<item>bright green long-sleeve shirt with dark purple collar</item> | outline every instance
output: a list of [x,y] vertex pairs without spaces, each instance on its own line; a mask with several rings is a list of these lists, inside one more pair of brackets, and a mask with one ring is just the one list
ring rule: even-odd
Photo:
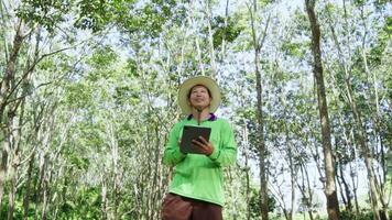
[[230,124],[224,119],[205,120],[200,127],[211,128],[209,141],[214,145],[211,155],[183,154],[179,152],[184,125],[197,125],[194,119],[177,122],[168,136],[163,162],[175,166],[170,193],[224,206],[224,166],[236,162],[237,144]]

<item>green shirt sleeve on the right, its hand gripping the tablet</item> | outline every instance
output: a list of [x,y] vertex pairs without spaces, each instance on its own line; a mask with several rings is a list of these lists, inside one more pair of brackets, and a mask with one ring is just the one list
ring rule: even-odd
[[237,160],[237,144],[230,124],[226,121],[221,124],[220,143],[215,147],[209,158],[219,166],[232,165]]

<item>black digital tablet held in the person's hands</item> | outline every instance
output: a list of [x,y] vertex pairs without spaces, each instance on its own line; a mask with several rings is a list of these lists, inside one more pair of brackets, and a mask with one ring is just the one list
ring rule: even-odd
[[209,141],[210,133],[210,128],[185,125],[183,130],[183,136],[181,138],[181,152],[184,154],[202,154],[199,152],[199,147],[192,143],[192,140],[197,140],[199,136],[203,136],[205,140]]

